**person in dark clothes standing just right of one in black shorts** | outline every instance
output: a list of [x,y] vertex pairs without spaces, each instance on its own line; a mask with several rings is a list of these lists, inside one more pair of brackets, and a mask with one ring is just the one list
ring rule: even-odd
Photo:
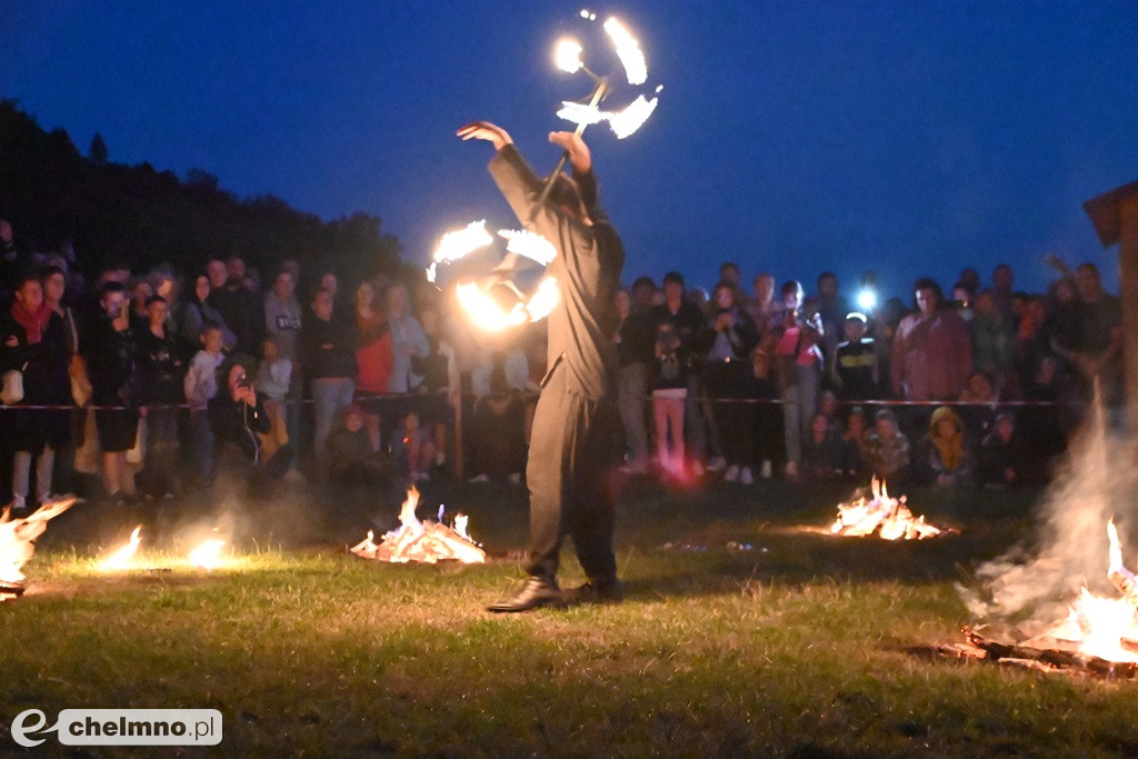
[[139,479],[142,494],[154,498],[178,492],[178,415],[185,398],[185,347],[167,331],[170,306],[152,295],[147,299],[147,324],[138,335],[141,402],[146,415],[146,467]]

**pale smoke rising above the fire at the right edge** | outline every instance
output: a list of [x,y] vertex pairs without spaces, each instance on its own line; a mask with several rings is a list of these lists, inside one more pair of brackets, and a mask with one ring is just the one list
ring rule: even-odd
[[1130,440],[1112,436],[1096,398],[1091,419],[1040,508],[1040,526],[1003,556],[982,564],[972,587],[957,586],[980,621],[1034,635],[1066,617],[1081,587],[1116,593],[1106,579],[1106,523],[1135,523],[1138,467]]

